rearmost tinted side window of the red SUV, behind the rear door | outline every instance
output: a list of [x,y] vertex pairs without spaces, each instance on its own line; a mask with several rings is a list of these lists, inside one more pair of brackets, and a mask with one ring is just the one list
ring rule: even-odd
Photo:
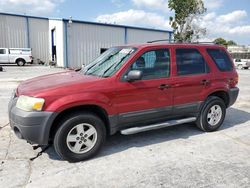
[[233,69],[231,60],[224,50],[207,49],[207,53],[213,59],[213,61],[215,62],[216,66],[220,71],[225,72],[225,71],[231,71]]

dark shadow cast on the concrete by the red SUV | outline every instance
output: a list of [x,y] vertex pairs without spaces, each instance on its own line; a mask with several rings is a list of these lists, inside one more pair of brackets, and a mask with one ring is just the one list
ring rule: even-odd
[[[250,121],[250,113],[236,108],[229,108],[226,119],[218,131],[237,126],[247,121]],[[187,139],[203,133],[204,132],[200,131],[195,124],[176,125],[128,136],[117,133],[107,138],[102,151],[96,158],[119,153],[133,147],[144,147],[175,139]],[[53,147],[47,150],[46,153],[51,159],[60,160]]]

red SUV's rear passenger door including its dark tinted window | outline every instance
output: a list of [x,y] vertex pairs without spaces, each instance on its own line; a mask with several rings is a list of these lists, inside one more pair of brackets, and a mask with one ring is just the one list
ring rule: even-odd
[[197,48],[175,48],[174,114],[188,115],[199,112],[210,88],[211,73],[204,52]]

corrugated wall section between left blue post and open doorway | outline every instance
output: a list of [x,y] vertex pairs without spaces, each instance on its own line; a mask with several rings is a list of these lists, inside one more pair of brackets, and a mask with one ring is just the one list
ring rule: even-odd
[[29,18],[30,48],[35,61],[49,61],[49,22],[46,19]]

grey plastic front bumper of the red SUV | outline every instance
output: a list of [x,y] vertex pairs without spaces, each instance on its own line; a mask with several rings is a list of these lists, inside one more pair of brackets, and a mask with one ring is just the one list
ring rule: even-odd
[[9,121],[16,136],[32,144],[47,145],[53,112],[26,112],[16,107],[17,97],[9,102]]

